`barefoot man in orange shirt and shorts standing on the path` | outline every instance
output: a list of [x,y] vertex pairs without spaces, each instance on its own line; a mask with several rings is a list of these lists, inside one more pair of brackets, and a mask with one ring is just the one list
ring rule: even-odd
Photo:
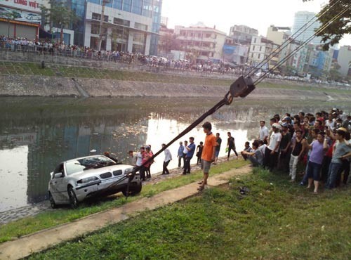
[[199,182],[200,186],[197,190],[204,190],[207,184],[208,172],[210,171],[211,163],[214,162],[216,158],[216,146],[218,145],[216,141],[216,136],[211,132],[212,124],[210,122],[205,122],[202,125],[204,133],[206,134],[204,149],[201,154],[201,169],[204,171],[204,178]]

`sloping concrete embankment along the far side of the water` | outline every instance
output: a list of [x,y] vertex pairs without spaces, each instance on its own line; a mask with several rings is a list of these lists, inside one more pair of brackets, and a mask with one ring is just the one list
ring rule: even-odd
[[[89,79],[25,75],[0,75],[0,96],[78,96],[78,97],[218,97],[229,86],[133,82],[115,79]],[[351,99],[347,93],[324,93],[297,89],[265,89],[258,86],[248,97],[256,100],[340,100]]]

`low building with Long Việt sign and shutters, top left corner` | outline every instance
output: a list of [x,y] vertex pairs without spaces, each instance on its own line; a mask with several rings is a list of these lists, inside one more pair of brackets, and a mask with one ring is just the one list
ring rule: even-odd
[[38,39],[42,5],[48,6],[48,1],[0,1],[0,35]]

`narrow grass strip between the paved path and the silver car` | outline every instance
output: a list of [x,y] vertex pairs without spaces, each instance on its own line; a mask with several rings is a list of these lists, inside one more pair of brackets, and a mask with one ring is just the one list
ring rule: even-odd
[[[224,171],[228,171],[232,168],[239,168],[246,164],[247,163],[244,162],[244,160],[235,160],[218,164],[216,167],[213,167],[211,175],[220,174]],[[80,219],[96,212],[102,212],[106,209],[119,207],[128,202],[138,200],[140,197],[152,197],[153,195],[161,193],[164,190],[171,190],[173,188],[178,188],[180,186],[184,186],[185,184],[197,181],[201,178],[201,176],[201,171],[195,171],[189,176],[177,176],[176,178],[170,178],[153,185],[144,186],[140,195],[128,197],[128,199],[124,198],[119,193],[115,196],[103,198],[101,200],[83,203],[78,209],[55,209],[53,211],[37,214],[36,216],[13,221],[0,227],[0,242],[6,242],[8,240],[21,237],[22,235],[43,230],[44,228],[58,226],[62,223],[69,223],[75,219]]]

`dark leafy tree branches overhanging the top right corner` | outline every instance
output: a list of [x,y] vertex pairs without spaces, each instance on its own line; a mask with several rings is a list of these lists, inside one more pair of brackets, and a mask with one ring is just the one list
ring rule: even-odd
[[[332,8],[327,11],[331,6]],[[333,20],[333,18],[335,18],[340,13],[340,11],[343,10],[345,10],[345,13],[343,13],[343,15],[340,15],[340,17],[332,22],[331,25],[327,26],[324,30],[317,33],[317,37],[322,37],[322,41],[324,42],[324,51],[328,51],[329,46],[338,44],[340,39],[343,38],[344,34],[351,34],[350,0],[329,0],[329,4],[324,6],[318,14],[318,20],[321,22],[321,26],[319,28],[322,28],[325,25],[328,25],[328,23]]]

